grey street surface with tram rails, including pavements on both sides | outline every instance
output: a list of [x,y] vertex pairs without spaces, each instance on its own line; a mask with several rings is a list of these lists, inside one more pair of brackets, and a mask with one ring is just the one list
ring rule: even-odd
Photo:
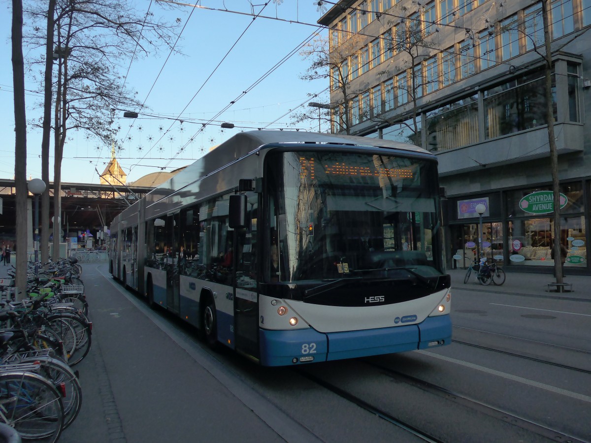
[[495,287],[452,270],[450,346],[294,369],[212,353],[84,266],[93,344],[61,442],[591,441],[588,276],[553,294],[549,275]]

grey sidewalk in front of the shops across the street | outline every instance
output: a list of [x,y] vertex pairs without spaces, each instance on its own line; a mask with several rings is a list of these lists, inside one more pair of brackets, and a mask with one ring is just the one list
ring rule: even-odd
[[469,289],[485,292],[502,292],[510,294],[545,295],[548,297],[558,296],[561,298],[587,299],[591,301],[591,277],[589,275],[568,275],[564,277],[564,283],[572,284],[571,292],[549,292],[548,283],[556,282],[551,273],[534,272],[511,272],[506,271],[505,283],[496,286],[491,283],[488,286],[481,285],[476,281],[476,275],[472,271],[470,280],[464,284],[464,277],[467,269],[447,269],[452,276],[452,288]]

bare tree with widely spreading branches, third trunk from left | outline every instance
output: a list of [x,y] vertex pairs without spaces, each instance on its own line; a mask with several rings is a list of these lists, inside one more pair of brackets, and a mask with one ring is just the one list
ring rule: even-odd
[[[37,6],[35,8],[34,6]],[[116,142],[117,128],[113,127],[113,113],[118,109],[139,109],[141,103],[125,87],[122,69],[134,57],[147,55],[149,50],[172,48],[174,31],[180,19],[168,24],[152,12],[136,11],[129,2],[117,0],[56,0],[55,7],[33,3],[28,10],[32,28],[27,35],[31,47],[46,48],[46,56],[33,63],[46,65],[43,89],[46,91],[44,118],[53,106],[54,127],[54,230],[53,259],[59,259],[61,224],[61,161],[67,132],[81,130],[106,145]],[[40,32],[36,21],[46,19],[49,26],[53,17],[53,34]],[[53,38],[52,38],[53,37]],[[47,58],[50,40],[55,48],[57,72],[51,82],[55,87],[52,101],[47,100]],[[38,122],[37,122],[38,123]],[[42,214],[48,224],[49,214]],[[46,244],[41,245],[42,252]]]

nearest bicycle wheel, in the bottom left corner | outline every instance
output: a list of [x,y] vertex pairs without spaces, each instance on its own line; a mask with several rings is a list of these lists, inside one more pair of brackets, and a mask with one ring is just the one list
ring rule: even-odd
[[0,374],[0,405],[6,422],[22,439],[54,443],[64,423],[61,395],[50,381],[32,372]]

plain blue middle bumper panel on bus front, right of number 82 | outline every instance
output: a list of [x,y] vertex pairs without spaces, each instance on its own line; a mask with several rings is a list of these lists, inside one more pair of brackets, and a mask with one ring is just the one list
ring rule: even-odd
[[392,354],[417,348],[418,325],[329,333],[327,360]]

